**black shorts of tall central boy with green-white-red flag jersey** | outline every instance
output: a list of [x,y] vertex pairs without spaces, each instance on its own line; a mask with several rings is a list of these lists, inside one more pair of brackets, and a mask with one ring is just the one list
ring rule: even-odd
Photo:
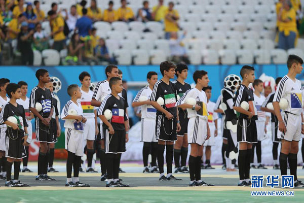
[[156,139],[162,141],[176,141],[176,118],[168,120],[164,115],[156,116]]

